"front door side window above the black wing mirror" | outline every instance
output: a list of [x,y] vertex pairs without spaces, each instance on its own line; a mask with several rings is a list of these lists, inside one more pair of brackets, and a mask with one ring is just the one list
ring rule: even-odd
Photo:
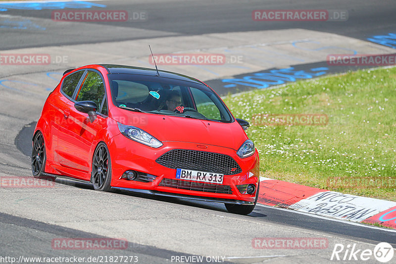
[[77,101],[94,101],[98,105],[98,111],[100,104],[104,97],[104,85],[100,75],[93,71],[88,71],[88,74],[84,80],[83,85],[77,96]]

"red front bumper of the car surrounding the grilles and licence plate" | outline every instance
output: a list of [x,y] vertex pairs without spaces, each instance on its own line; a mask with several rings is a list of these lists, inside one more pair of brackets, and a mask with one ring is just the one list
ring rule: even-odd
[[[202,144],[164,141],[163,146],[160,148],[151,148],[134,142],[122,134],[115,136],[113,139],[113,143],[109,146],[109,152],[112,164],[111,186],[114,188],[151,195],[188,198],[210,202],[247,205],[254,203],[255,192],[253,194],[247,194],[246,192],[241,192],[238,187],[245,184],[254,184],[257,190],[259,181],[259,159],[257,150],[252,156],[242,159],[233,149],[206,145],[207,149],[205,149],[205,152],[220,153],[230,156],[237,162],[242,172],[235,175],[224,175],[222,184],[206,183],[209,184],[206,186],[209,186],[211,189],[213,189],[214,185],[218,185],[217,187],[221,190],[205,191],[204,186],[202,186],[204,184],[203,182],[176,179],[176,169],[167,168],[156,162],[158,157],[172,149],[202,151],[202,149],[197,147]],[[121,178],[124,172],[128,170],[134,170],[156,177],[150,182]],[[166,184],[167,182],[171,182],[173,185]],[[197,188],[197,185],[202,188]],[[224,189],[228,189],[228,191],[224,191]]]

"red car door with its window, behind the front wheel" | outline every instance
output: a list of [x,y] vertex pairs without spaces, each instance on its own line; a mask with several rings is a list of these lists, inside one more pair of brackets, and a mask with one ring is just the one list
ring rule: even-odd
[[[106,114],[105,88],[103,77],[96,70],[88,70],[77,88],[73,100],[65,104],[67,122],[59,128],[58,154],[59,164],[64,174],[78,178],[90,179],[91,159],[94,151],[93,141]],[[98,118],[91,123],[88,114],[77,111],[74,103],[78,101],[94,101],[98,108]],[[101,109],[103,108],[103,109]]]

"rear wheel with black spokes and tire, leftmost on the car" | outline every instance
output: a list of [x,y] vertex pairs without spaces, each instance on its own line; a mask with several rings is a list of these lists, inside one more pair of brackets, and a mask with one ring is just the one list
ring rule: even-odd
[[47,178],[43,176],[44,169],[46,168],[46,144],[42,132],[37,132],[33,138],[32,147],[32,173],[35,178]]

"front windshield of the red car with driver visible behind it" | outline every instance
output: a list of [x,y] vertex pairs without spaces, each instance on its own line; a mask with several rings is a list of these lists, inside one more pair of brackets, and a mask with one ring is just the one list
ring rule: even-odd
[[114,105],[131,111],[232,122],[224,103],[203,84],[170,78],[109,74]]

